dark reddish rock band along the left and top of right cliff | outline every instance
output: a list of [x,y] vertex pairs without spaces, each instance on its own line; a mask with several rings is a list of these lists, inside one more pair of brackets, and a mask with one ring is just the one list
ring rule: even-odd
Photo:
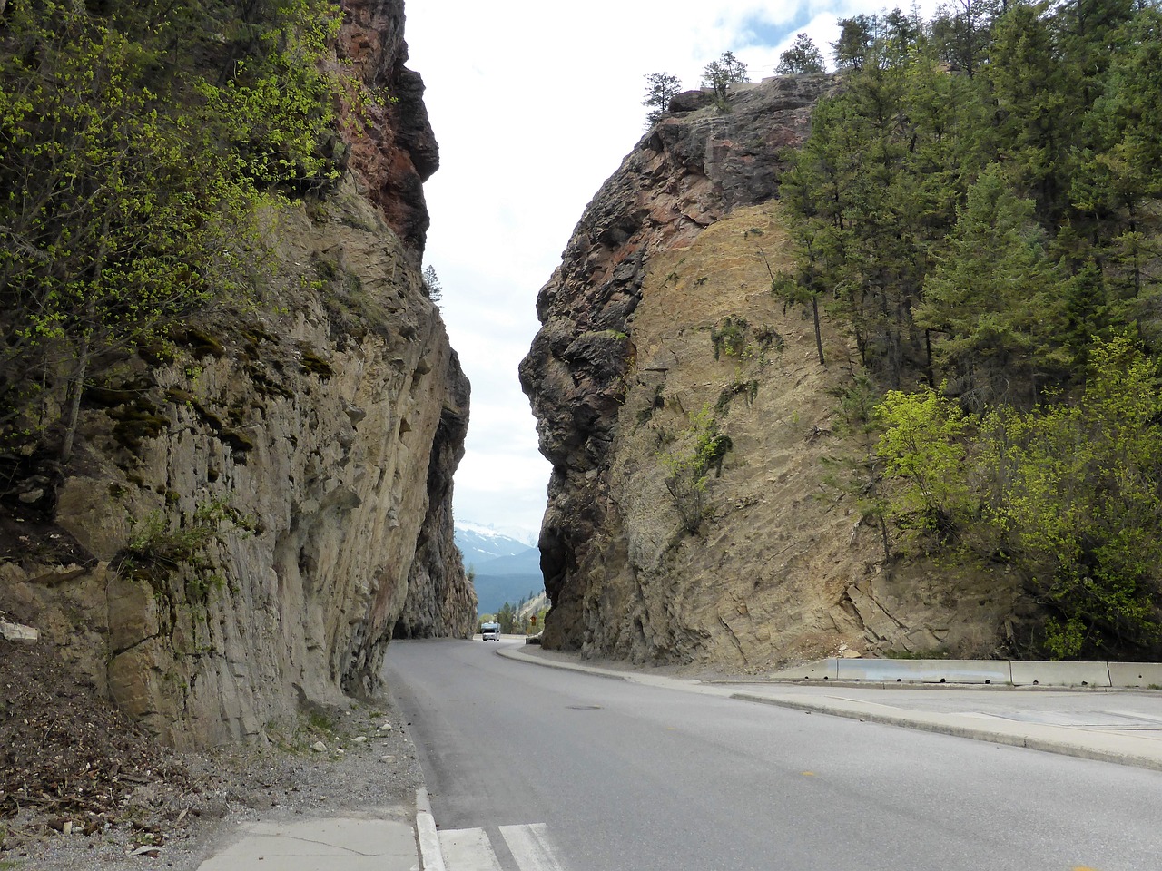
[[[811,109],[832,85],[827,75],[774,79],[732,95],[727,113],[700,92],[675,98],[672,110],[684,114],[655,124],[605,181],[541,288],[543,326],[521,363],[521,384],[553,466],[540,533],[553,604],[546,645],[597,654],[614,647],[586,635],[582,612],[597,595],[597,567],[616,561],[621,547],[610,445],[650,259],[690,244],[732,209],[774,197],[788,168],[786,146],[806,137]],[[617,632],[611,627],[609,638]]]

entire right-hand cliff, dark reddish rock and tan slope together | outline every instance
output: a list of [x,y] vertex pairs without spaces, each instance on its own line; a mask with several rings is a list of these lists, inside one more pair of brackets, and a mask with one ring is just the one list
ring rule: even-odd
[[[521,366],[552,462],[547,646],[768,668],[839,652],[987,646],[1007,592],[884,570],[829,470],[858,354],[772,294],[776,200],[824,75],[677,98],[586,209]],[[701,483],[691,468],[717,438]],[[722,437],[722,438],[719,438]],[[712,452],[713,453],[713,452]],[[959,593],[967,593],[960,590]]]

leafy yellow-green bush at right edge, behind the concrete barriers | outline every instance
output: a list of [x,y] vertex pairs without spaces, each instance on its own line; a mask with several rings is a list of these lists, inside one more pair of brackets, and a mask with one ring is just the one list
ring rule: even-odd
[[1128,339],[1097,346],[1073,405],[995,413],[987,514],[1085,653],[1162,639],[1159,367]]

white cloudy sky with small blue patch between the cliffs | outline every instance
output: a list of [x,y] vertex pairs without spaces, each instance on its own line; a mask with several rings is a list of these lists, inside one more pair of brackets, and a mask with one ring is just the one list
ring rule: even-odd
[[408,66],[426,84],[440,146],[439,172],[424,187],[432,222],[424,261],[443,285],[444,319],[472,380],[456,518],[535,540],[550,469],[517,365],[539,326],[537,291],[586,204],[644,132],[645,77],[666,72],[695,88],[705,65],[732,51],[758,80],[802,31],[830,64],[835,21],[887,5],[406,2]]

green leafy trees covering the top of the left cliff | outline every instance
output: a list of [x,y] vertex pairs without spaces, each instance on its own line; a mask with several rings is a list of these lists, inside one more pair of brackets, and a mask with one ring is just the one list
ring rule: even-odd
[[258,216],[336,172],[324,150],[342,82],[322,62],[338,22],[336,5],[307,0],[8,3],[0,437],[56,434],[67,459],[110,351],[251,293]]

